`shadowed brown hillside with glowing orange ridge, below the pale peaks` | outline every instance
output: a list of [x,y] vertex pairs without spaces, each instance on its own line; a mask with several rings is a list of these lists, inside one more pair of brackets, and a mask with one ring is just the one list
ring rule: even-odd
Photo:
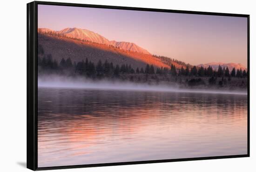
[[[143,54],[135,51],[125,51],[113,46],[96,44],[63,38],[58,36],[49,36],[38,34],[38,44],[44,49],[44,54],[51,54],[58,62],[62,58],[70,57],[72,61],[88,60],[95,64],[101,59],[102,62],[108,60],[113,64],[131,64],[133,68],[145,67],[146,64],[153,64],[155,67],[170,67],[167,64],[150,54]],[[179,66],[179,64],[175,64]]]

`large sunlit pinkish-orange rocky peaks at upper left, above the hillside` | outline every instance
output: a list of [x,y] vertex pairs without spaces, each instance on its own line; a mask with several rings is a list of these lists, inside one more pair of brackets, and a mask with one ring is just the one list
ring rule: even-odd
[[75,38],[78,40],[89,41],[97,44],[111,45],[118,47],[125,51],[134,51],[143,54],[150,54],[147,50],[141,48],[135,43],[129,42],[117,42],[117,41],[109,41],[107,38],[99,35],[98,33],[89,31],[87,29],[79,29],[79,28],[65,28],[61,31],[54,31],[47,28],[39,28],[39,33],[51,33],[54,35],[64,36],[67,38]]

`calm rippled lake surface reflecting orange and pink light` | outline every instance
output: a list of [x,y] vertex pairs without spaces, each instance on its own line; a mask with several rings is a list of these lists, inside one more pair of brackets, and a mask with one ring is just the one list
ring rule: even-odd
[[38,166],[247,154],[247,96],[38,89]]

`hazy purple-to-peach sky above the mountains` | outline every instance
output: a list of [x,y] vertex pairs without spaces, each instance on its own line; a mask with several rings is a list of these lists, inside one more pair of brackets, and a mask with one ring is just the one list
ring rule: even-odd
[[77,27],[189,64],[247,67],[247,18],[38,5],[38,27]]

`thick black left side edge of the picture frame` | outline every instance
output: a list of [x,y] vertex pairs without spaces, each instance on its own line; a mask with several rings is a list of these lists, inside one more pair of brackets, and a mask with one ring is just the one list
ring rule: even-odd
[[27,168],[37,169],[34,57],[35,57],[35,2],[27,3]]

